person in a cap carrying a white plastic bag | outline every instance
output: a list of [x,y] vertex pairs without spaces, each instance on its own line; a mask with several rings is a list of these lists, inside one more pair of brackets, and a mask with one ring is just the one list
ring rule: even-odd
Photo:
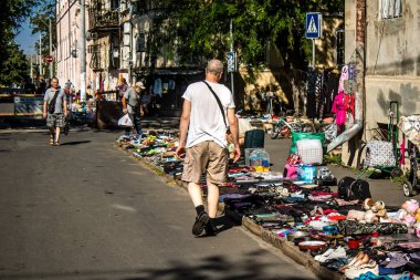
[[[143,106],[141,106],[141,92],[145,90],[145,85],[141,82],[137,82],[134,87],[128,87],[123,96],[123,113],[128,114],[129,118],[134,124],[134,128],[136,129],[137,137],[141,138],[141,123],[140,116],[144,115]],[[130,128],[125,129],[125,134],[130,134]]]

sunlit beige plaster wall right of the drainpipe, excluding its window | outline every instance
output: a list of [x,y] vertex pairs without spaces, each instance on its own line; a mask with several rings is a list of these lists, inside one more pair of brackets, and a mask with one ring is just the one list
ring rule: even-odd
[[402,4],[402,17],[387,20],[379,18],[379,1],[367,6],[367,129],[388,122],[390,101],[400,103],[402,115],[420,112],[420,3]]

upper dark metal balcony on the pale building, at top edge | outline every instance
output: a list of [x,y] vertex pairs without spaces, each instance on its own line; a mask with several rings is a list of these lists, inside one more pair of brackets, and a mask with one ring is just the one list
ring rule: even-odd
[[90,31],[106,32],[118,30],[118,8],[107,8],[106,0],[93,0],[88,8]]

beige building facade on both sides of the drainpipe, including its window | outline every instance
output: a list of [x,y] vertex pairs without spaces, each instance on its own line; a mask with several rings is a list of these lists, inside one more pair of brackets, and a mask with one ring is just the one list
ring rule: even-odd
[[[391,101],[398,102],[400,115],[420,112],[419,13],[418,1],[366,1],[365,142],[371,139],[377,127],[388,124]],[[346,61],[354,61],[355,58],[356,14],[356,0],[346,0]],[[348,151],[356,151],[356,147],[345,146],[344,163],[356,165],[357,156]]]

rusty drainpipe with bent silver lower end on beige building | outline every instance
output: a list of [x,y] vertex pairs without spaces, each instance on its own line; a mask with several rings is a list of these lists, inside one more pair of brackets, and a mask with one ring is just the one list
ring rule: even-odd
[[355,123],[344,131],[327,146],[327,153],[357,135],[364,126],[365,103],[365,32],[366,32],[366,0],[356,0],[356,96]]

